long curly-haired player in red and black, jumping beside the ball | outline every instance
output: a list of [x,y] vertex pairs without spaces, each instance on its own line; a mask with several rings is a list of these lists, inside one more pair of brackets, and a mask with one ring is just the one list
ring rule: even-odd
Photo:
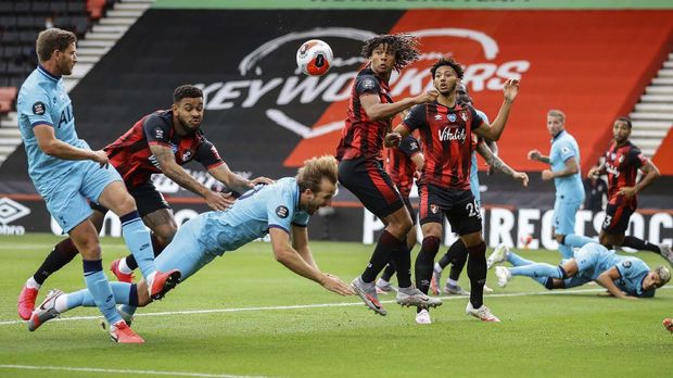
[[346,125],[336,148],[339,181],[385,225],[365,272],[352,282],[365,304],[380,315],[386,311],[377,297],[374,279],[391,259],[397,270],[397,303],[422,306],[442,303],[411,286],[411,255],[406,243],[411,216],[382,164],[383,136],[390,130],[392,118],[437,96],[436,90],[430,90],[398,102],[391,98],[389,80],[393,70],[404,68],[419,54],[418,40],[408,35],[380,35],[365,42],[361,55],[369,64],[353,84]]

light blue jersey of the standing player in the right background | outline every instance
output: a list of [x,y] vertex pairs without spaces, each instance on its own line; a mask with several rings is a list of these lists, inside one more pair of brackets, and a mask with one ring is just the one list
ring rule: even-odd
[[[577,164],[580,164],[580,147],[575,138],[563,130],[551,140],[551,150],[549,151],[551,171],[558,172],[563,169],[566,161],[570,158],[574,158]],[[580,172],[566,177],[556,177],[554,185],[556,186],[557,197],[575,199],[580,202],[584,201],[584,187],[582,186]]]

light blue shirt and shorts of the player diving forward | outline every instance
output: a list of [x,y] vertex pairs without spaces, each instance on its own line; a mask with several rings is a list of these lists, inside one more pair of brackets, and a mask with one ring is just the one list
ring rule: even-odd
[[300,188],[294,178],[257,186],[230,209],[203,213],[182,225],[156,257],[156,268],[177,268],[185,280],[217,255],[264,237],[270,228],[290,234],[292,225],[306,227],[308,218],[308,213],[300,209]]

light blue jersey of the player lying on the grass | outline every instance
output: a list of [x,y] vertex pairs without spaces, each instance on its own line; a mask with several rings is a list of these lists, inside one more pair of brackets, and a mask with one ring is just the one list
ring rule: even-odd
[[589,243],[575,252],[575,261],[579,279],[596,280],[604,272],[617,267],[621,277],[614,281],[614,285],[620,290],[634,297],[653,295],[655,290],[643,291],[643,280],[650,269],[640,259],[619,255],[601,244]]

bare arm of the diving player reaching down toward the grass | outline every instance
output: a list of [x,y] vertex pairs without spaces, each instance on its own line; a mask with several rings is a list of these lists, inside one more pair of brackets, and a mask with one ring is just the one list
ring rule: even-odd
[[269,229],[269,236],[271,237],[271,248],[274,249],[276,261],[283,264],[288,269],[302,277],[314,280],[327,290],[340,295],[353,295],[355,293],[351,286],[343,282],[339,277],[325,274],[306,263],[299,252],[290,245],[290,236],[285,230],[271,227]]

